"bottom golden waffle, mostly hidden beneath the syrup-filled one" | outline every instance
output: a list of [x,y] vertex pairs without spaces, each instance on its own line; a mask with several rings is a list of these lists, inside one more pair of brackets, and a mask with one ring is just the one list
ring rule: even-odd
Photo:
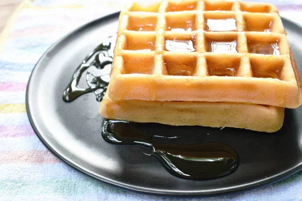
[[233,127],[268,133],[278,131],[284,118],[284,108],[273,106],[225,102],[114,101],[108,94],[101,103],[100,113],[104,118],[114,120]]

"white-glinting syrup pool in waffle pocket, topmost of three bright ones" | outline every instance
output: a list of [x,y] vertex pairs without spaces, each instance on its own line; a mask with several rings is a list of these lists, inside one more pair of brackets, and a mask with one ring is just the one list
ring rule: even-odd
[[230,19],[207,19],[206,31],[235,31],[236,20]]

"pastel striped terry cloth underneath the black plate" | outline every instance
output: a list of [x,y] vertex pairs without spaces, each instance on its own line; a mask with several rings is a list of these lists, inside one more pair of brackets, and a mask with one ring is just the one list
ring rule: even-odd
[[[302,25],[302,0],[264,1]],[[125,2],[25,1],[11,18],[0,36],[0,200],[180,200],[127,192],[74,171],[45,149],[26,115],[27,81],[46,49],[80,25],[120,10]],[[238,194],[186,199],[302,200],[302,172]]]

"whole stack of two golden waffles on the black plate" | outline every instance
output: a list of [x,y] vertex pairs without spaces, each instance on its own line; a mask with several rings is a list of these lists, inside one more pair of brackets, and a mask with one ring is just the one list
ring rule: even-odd
[[163,1],[121,12],[107,119],[275,132],[301,84],[276,7]]

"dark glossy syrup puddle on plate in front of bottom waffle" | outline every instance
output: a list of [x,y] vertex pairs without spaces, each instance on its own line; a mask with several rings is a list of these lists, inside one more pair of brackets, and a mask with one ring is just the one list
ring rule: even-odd
[[213,179],[229,175],[238,168],[238,155],[228,145],[214,142],[184,145],[182,140],[186,137],[150,135],[137,125],[139,123],[105,120],[102,136],[109,143],[151,149],[150,154],[145,154],[159,159],[171,174],[181,178]]

